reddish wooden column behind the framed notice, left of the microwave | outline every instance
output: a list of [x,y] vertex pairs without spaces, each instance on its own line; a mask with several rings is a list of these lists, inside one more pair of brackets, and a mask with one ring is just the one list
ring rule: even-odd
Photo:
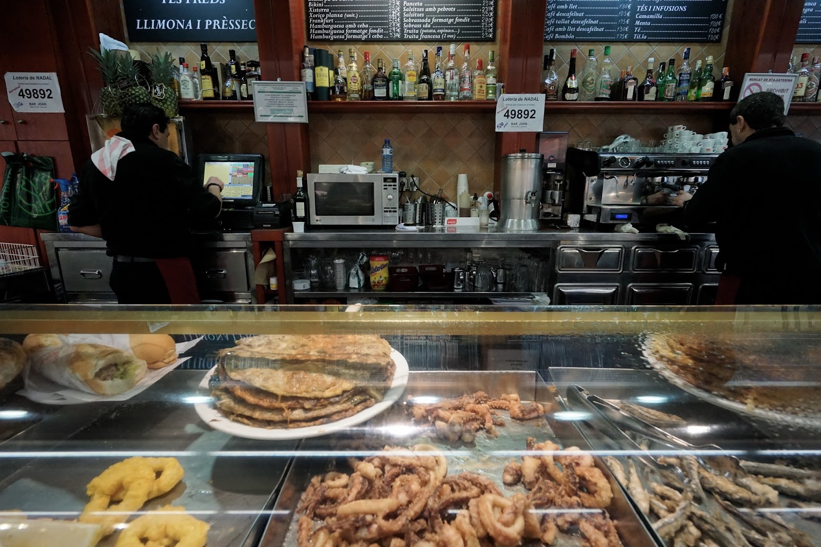
[[[259,62],[264,80],[300,80],[304,2],[255,0]],[[310,170],[308,125],[268,123],[268,164],[275,200],[296,191],[296,172]]]

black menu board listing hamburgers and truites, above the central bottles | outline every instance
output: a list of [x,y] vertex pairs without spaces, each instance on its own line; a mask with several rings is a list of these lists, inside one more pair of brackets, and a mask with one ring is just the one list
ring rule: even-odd
[[489,42],[496,0],[305,0],[308,39]]

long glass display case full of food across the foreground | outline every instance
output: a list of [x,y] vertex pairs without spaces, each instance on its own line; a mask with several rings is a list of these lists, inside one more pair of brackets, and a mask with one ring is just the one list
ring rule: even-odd
[[5,306],[0,331],[2,545],[821,545],[810,307]]

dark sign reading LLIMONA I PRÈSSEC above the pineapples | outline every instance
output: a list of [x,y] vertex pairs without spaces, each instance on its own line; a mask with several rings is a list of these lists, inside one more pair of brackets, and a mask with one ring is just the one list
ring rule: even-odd
[[131,42],[256,42],[254,0],[123,0]]

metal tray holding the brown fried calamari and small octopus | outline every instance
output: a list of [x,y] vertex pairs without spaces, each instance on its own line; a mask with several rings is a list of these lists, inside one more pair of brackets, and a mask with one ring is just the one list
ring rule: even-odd
[[[518,457],[525,451],[526,437],[534,436],[539,442],[551,439],[562,447],[577,446],[589,449],[589,445],[573,425],[551,417],[562,409],[558,407],[544,380],[534,372],[411,372],[406,396],[450,398],[479,390],[493,397],[498,397],[502,393],[519,393],[522,400],[535,400],[544,404],[548,417],[541,421],[518,422],[509,419],[506,413],[502,412],[506,425],[498,428],[497,438],[480,433],[473,445],[451,445],[438,439],[423,439],[401,404],[397,403],[390,411],[355,430],[327,438],[306,439],[300,445],[301,455],[295,458],[282,485],[260,545],[294,547],[296,522],[299,520],[296,506],[311,477],[329,471],[337,464],[344,467],[346,457],[365,457],[385,444],[434,444],[441,448],[447,457],[448,474],[461,471],[486,474],[507,495],[515,491],[525,492],[521,485],[502,485],[502,469],[511,457]],[[561,414],[558,416],[562,417]],[[598,458],[596,463],[610,480],[614,496],[608,513],[618,521],[618,529],[626,547],[656,545],[656,541],[635,513],[630,501],[621,492],[607,467]],[[560,534],[555,545],[578,545],[578,537],[571,540],[568,536]]]

